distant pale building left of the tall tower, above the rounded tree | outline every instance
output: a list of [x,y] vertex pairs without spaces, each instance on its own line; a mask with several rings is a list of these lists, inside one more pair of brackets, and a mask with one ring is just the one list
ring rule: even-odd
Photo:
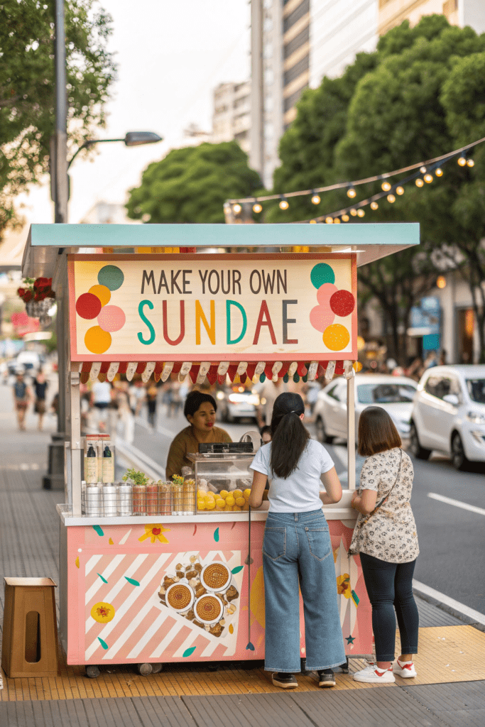
[[214,90],[212,142],[215,144],[236,139],[241,149],[249,153],[250,84],[219,84]]

